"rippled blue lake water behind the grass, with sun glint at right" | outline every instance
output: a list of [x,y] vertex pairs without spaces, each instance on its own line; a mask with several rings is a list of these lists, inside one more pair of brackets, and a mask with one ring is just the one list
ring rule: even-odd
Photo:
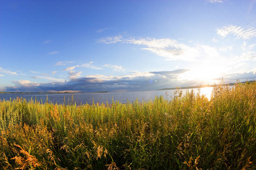
[[[185,92],[191,91],[192,89],[181,89],[183,91],[183,94]],[[22,97],[26,100],[38,100],[44,103],[48,96],[48,101],[51,101],[52,103],[58,103],[63,104],[64,103],[64,97],[65,97],[65,103],[68,102],[71,103],[72,95],[73,95],[73,101],[76,102],[76,104],[92,104],[94,103],[112,103],[112,99],[114,101],[119,101],[121,103],[127,103],[127,101],[133,102],[136,99],[138,99],[139,102],[145,100],[154,100],[155,96],[163,96],[164,99],[171,100],[171,96],[174,95],[174,92],[176,90],[158,90],[158,91],[136,91],[136,92],[102,92],[102,93],[67,93],[67,94],[0,94],[0,99],[3,100],[10,100],[10,99],[16,99],[16,97]],[[194,92],[198,92],[198,89],[193,88]],[[200,89],[200,94],[205,95],[208,99],[210,99],[210,94],[212,92],[212,87],[204,87]]]

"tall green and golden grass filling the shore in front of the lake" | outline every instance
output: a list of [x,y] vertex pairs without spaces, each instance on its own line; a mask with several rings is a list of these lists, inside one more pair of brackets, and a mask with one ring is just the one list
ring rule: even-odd
[[256,83],[168,101],[0,101],[1,169],[255,169]]

